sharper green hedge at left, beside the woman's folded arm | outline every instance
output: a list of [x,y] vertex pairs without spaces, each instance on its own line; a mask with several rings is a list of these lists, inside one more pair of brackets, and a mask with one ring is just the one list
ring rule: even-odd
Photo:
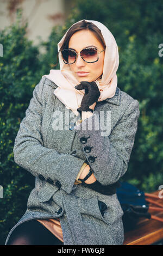
[[40,77],[39,49],[26,38],[27,24],[21,25],[21,12],[11,27],[0,32],[3,57],[0,58],[0,199],[1,243],[27,208],[34,177],[14,162],[14,140]]

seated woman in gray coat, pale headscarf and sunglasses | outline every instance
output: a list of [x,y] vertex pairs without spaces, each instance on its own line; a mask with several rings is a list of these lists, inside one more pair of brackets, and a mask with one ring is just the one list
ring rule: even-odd
[[116,187],[139,102],[117,87],[118,47],[102,23],[74,23],[58,51],[60,70],[35,87],[15,139],[15,162],[35,188],[5,245],[122,245]]

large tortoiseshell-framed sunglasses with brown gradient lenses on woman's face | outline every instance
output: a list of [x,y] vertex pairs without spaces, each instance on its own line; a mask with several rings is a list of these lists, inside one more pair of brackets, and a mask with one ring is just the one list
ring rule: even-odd
[[[103,52],[105,50],[102,50]],[[87,63],[93,63],[98,61],[98,54],[101,53],[97,51],[97,48],[87,47],[84,48],[80,53],[76,53],[76,51],[72,49],[64,49],[61,51],[62,59],[65,64],[73,64],[76,62],[77,55],[80,54],[82,59]]]

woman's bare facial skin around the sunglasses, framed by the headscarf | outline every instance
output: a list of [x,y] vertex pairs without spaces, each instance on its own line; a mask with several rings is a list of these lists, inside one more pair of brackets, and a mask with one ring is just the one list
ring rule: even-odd
[[[73,48],[77,53],[79,53],[83,48],[88,46],[95,46],[98,48],[98,52],[104,50],[101,42],[98,41],[96,36],[91,31],[78,31],[74,33],[69,41],[68,48]],[[92,82],[95,81],[98,77],[100,77],[103,73],[103,65],[104,65],[104,56],[105,53],[101,52],[98,54],[98,61],[95,63],[87,63],[85,62],[80,54],[77,56],[76,62],[69,65],[71,71],[74,76],[77,78],[79,83],[81,81]],[[77,74],[78,72],[87,72],[80,76]]]

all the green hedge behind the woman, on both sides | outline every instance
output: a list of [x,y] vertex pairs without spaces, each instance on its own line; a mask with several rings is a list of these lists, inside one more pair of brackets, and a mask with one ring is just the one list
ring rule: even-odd
[[[127,173],[128,181],[151,192],[163,185],[162,68],[158,45],[163,42],[160,0],[74,1],[65,26],[55,26],[46,42],[37,46],[26,37],[28,24],[17,20],[0,32],[4,53],[0,57],[0,199],[1,244],[27,208],[34,187],[32,174],[14,162],[14,140],[20,122],[42,75],[49,74],[57,62],[57,44],[66,30],[82,19],[104,23],[115,36],[120,53],[118,87],[140,102],[139,126]],[[46,53],[39,52],[44,47]],[[59,65],[55,67],[59,69]]]

